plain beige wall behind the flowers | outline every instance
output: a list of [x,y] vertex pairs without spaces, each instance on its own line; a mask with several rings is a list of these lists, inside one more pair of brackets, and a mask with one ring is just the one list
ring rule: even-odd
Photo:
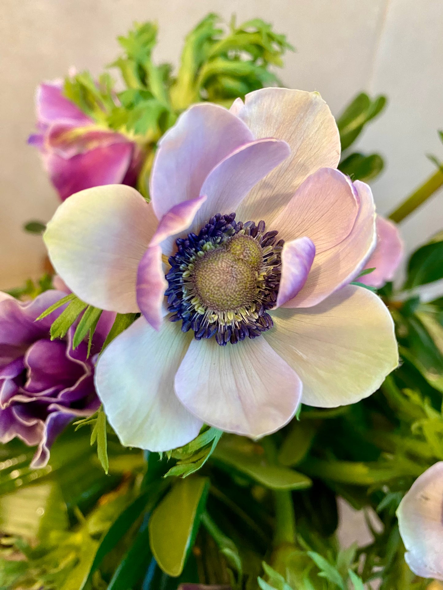
[[[443,159],[436,133],[443,128],[442,0],[0,0],[0,289],[38,274],[43,246],[21,226],[47,220],[57,206],[26,144],[35,86],[71,65],[99,73],[133,21],[158,21],[155,56],[177,63],[184,35],[209,11],[273,22],[297,47],[284,83],[320,91],[334,114],[360,90],[389,96],[386,114],[360,141],[387,159],[373,184],[380,212],[432,173],[425,153]],[[402,229],[411,249],[442,227],[440,192]]]

